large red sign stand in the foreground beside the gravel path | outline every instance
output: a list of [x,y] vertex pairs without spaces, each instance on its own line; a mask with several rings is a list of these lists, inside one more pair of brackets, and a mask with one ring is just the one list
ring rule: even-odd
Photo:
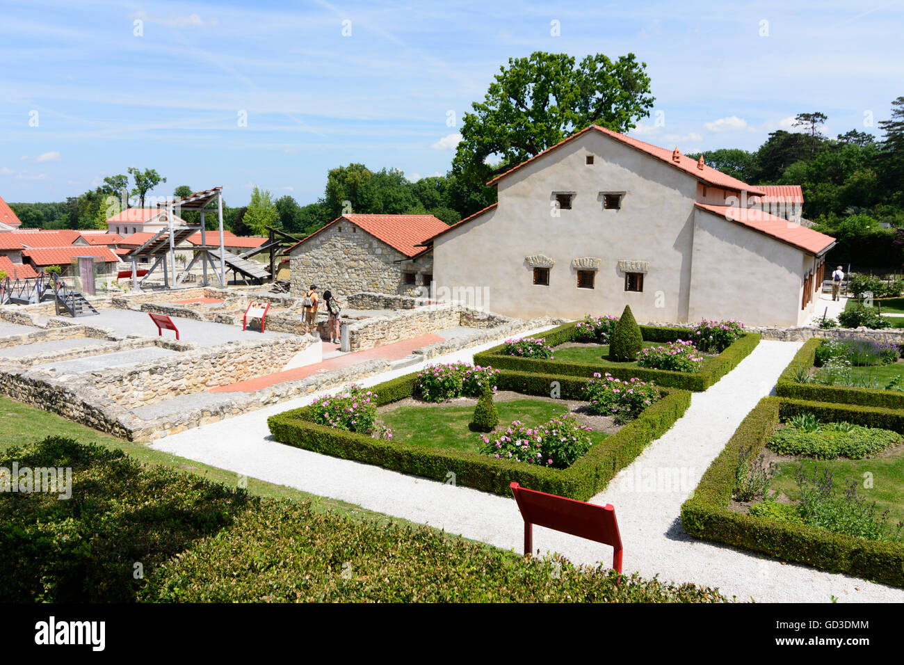
[[555,529],[612,546],[612,567],[621,573],[622,544],[618,534],[616,509],[612,504],[597,506],[586,501],[566,499],[555,494],[538,492],[513,482],[514,500],[524,518],[524,554],[533,551],[533,525]]

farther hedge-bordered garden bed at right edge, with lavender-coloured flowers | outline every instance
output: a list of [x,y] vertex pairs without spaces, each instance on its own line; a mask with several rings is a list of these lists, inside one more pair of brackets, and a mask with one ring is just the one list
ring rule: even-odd
[[[904,362],[898,360],[893,364],[878,367],[852,366],[852,379],[861,385],[818,383],[820,368],[816,367],[816,352],[823,341],[814,337],[805,342],[778,377],[777,395],[816,402],[860,404],[904,410],[904,391],[887,390],[884,387],[889,385],[896,375],[904,376]],[[866,387],[867,382],[881,387]],[[900,385],[904,388],[904,383]]]

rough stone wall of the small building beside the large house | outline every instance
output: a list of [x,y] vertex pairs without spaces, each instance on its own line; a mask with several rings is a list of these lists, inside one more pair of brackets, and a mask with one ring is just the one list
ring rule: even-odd
[[[403,261],[411,262],[401,252],[343,219],[292,252],[292,294],[303,296],[311,284],[317,285],[318,293],[329,289],[339,299],[361,290],[419,293],[420,280],[413,286],[402,283]],[[429,271],[433,271],[432,263]]]

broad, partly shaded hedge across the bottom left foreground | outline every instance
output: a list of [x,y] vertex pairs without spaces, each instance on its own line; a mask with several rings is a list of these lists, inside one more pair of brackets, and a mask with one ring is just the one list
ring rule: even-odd
[[0,493],[3,602],[726,600],[693,584],[619,579],[605,565],[525,559],[431,527],[262,499],[71,439],[0,454],[0,466],[12,461],[70,467],[72,497]]

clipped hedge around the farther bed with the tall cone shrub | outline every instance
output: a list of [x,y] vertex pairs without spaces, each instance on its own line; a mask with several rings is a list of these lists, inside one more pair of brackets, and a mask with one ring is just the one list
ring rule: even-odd
[[[567,323],[535,337],[545,339],[548,345],[556,347],[571,341],[576,332],[576,326],[577,323]],[[688,330],[685,328],[641,326],[640,331],[647,342],[673,342],[688,336]],[[495,369],[512,369],[518,372],[537,372],[547,375],[590,377],[593,376],[594,372],[599,372],[600,374],[608,372],[622,380],[636,376],[642,381],[654,381],[656,385],[680,388],[682,390],[703,391],[719,381],[722,376],[727,375],[738,366],[741,360],[749,356],[759,344],[759,338],[758,334],[745,333],[718,356],[708,358],[703,363],[701,370],[693,374],[664,369],[647,369],[637,366],[600,366],[587,363],[567,363],[555,359],[546,360],[542,358],[507,356],[503,353],[504,345],[489,348],[475,354],[474,363],[481,366],[493,366]]]

